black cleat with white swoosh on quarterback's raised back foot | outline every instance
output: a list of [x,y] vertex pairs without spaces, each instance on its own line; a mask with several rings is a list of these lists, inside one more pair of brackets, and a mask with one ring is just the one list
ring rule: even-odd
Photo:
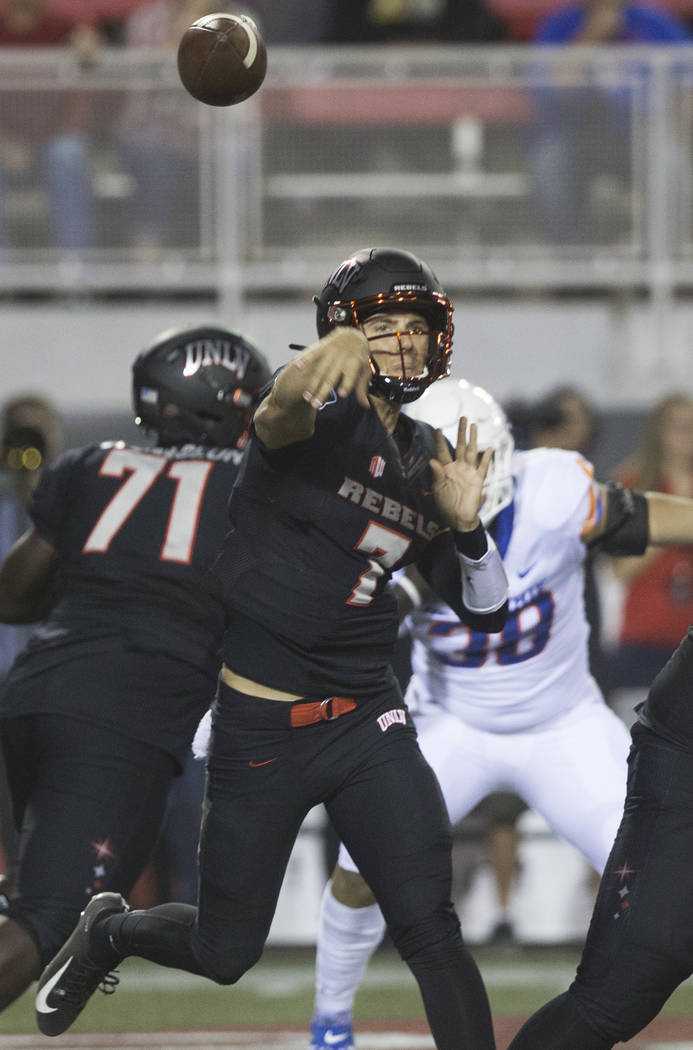
[[106,994],[116,991],[118,978],[110,969],[118,960],[94,963],[89,958],[94,920],[109,911],[129,911],[129,907],[120,894],[92,897],[71,934],[41,974],[36,995],[36,1021],[44,1035],[60,1035],[66,1031],[97,988]]

